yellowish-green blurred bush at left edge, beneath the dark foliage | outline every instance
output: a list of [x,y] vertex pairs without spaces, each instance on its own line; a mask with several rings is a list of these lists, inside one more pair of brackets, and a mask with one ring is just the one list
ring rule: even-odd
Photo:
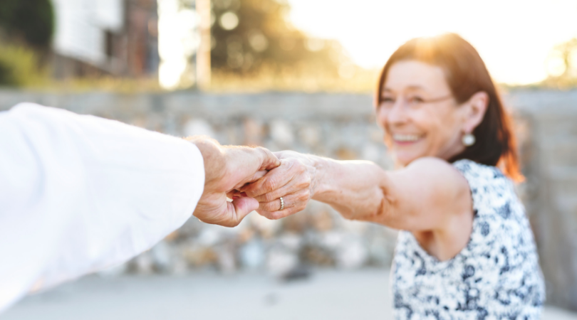
[[0,43],[0,86],[31,87],[48,79],[48,70],[38,70],[38,55],[23,46]]

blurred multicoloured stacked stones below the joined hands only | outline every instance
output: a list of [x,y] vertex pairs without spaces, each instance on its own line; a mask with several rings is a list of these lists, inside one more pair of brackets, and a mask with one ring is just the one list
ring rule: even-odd
[[251,213],[232,229],[191,218],[151,250],[110,272],[216,270],[230,274],[246,270],[290,278],[311,267],[387,267],[394,243],[393,230],[345,221],[328,206],[311,203],[305,211],[284,220]]

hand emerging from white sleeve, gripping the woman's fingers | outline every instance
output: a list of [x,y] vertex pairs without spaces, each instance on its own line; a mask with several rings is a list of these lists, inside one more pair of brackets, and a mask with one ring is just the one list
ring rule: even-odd
[[204,192],[194,216],[204,223],[234,227],[251,211],[259,208],[259,201],[248,197],[232,198],[232,191],[258,180],[267,170],[281,164],[271,151],[248,146],[220,146],[207,137],[192,137],[204,159]]

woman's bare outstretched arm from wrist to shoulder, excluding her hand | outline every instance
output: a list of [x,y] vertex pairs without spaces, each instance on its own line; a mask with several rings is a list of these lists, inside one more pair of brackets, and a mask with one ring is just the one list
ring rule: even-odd
[[410,231],[442,230],[452,217],[472,210],[467,181],[440,159],[418,159],[398,171],[364,161],[324,165],[313,199],[345,218]]

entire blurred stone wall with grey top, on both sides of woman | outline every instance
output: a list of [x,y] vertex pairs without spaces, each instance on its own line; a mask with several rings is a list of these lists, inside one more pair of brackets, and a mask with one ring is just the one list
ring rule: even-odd
[[[258,144],[273,151],[293,149],[392,167],[370,95],[0,91],[0,110],[23,101],[176,136],[209,134],[222,144]],[[549,302],[577,309],[577,92],[514,91],[506,101],[513,107],[527,177],[519,192],[534,227]],[[313,202],[305,212],[279,221],[251,213],[233,229],[191,218],[152,250],[113,272],[245,268],[293,277],[308,266],[387,266],[394,242],[393,230],[343,220],[330,207]]]

